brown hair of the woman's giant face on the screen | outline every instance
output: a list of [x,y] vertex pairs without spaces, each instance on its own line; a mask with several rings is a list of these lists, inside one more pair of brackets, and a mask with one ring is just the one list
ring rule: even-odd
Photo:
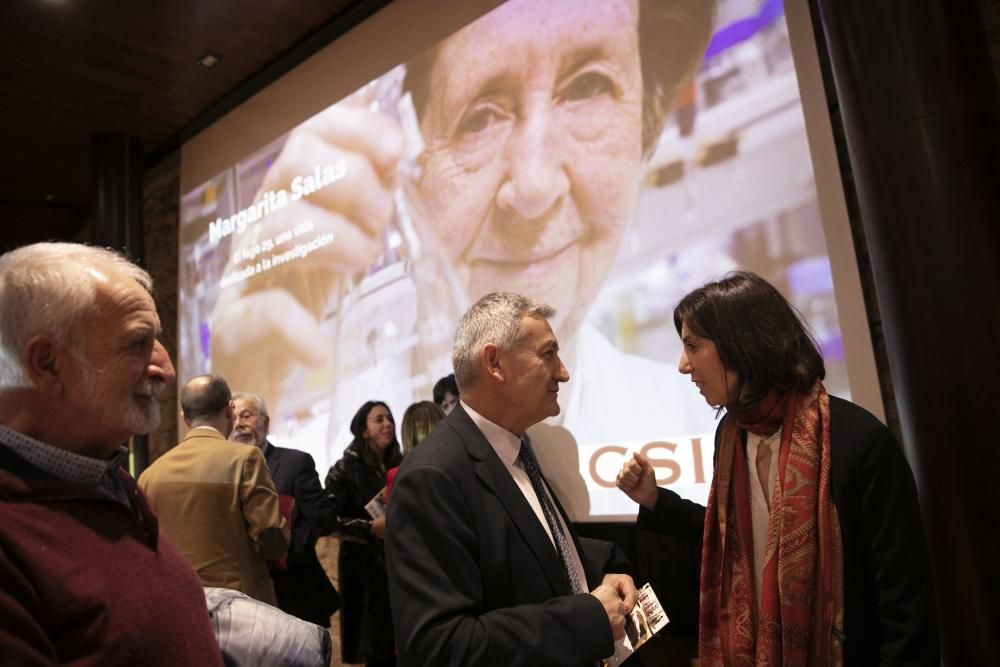
[[[714,19],[714,0],[639,0],[642,150],[646,157],[656,148],[677,94],[701,65]],[[440,43],[406,63],[403,90],[411,94],[419,117],[431,96],[430,75],[439,51]]]

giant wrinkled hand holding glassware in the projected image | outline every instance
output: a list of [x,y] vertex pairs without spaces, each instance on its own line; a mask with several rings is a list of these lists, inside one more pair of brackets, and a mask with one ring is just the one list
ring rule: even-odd
[[291,192],[293,179],[316,167],[335,166],[342,177],[234,236],[223,273],[246,266],[248,260],[236,258],[247,248],[306,221],[311,231],[260,255],[327,234],[333,242],[220,291],[212,314],[212,370],[234,389],[277,400],[293,363],[315,367],[326,361],[323,310],[338,285],[382,252],[380,235],[392,219],[392,182],[402,150],[399,125],[357,103],[331,107],[289,135],[259,193]]

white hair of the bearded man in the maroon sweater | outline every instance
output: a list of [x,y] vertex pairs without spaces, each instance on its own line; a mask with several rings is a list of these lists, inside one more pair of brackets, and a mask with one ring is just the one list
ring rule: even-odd
[[35,243],[0,257],[0,388],[28,386],[24,346],[49,334],[71,350],[86,341],[80,327],[93,313],[97,268],[120,271],[152,294],[153,280],[112,250],[80,243]]

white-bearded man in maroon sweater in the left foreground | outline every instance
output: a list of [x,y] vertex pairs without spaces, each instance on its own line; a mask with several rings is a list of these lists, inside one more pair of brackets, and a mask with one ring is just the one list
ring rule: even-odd
[[174,379],[151,289],[100,248],[0,257],[4,664],[222,664],[198,577],[124,467]]

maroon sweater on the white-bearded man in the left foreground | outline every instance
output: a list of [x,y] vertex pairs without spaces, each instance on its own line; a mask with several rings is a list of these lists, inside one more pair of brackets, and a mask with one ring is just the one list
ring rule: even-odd
[[222,665],[198,576],[135,481],[131,508],[0,445],[0,662]]

